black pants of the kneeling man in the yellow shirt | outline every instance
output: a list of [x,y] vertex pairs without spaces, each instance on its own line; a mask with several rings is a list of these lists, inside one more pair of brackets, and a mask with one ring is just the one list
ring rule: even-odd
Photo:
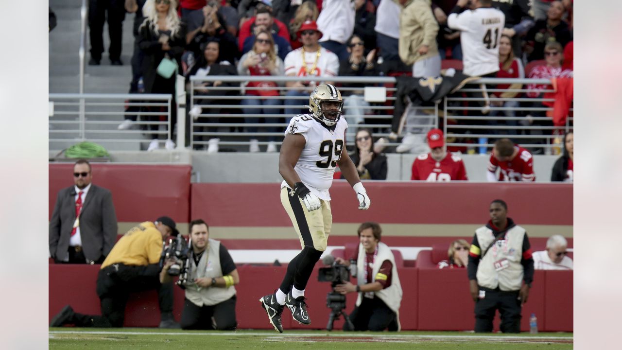
[[[118,268],[115,268],[115,265]],[[173,311],[173,283],[160,284],[157,264],[129,266],[115,264],[100,270],[96,291],[100,296],[101,316],[76,313],[73,323],[78,327],[123,327],[125,305],[129,293],[158,290],[160,313]]]

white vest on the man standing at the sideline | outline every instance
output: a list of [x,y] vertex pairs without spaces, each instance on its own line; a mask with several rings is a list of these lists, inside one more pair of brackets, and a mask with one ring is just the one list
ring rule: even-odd
[[[525,229],[514,226],[508,230],[503,240],[494,241],[491,229],[482,226],[475,231],[477,242],[481,248],[480,264],[477,268],[477,284],[485,288],[495,289],[497,286],[503,291],[516,291],[521,289],[524,269],[522,260],[522,241],[525,237]],[[486,253],[484,249],[490,250]],[[495,265],[500,268],[497,270]]]

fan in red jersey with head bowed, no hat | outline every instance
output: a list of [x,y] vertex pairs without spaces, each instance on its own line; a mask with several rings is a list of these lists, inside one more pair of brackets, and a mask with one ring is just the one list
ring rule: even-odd
[[509,138],[494,143],[486,174],[488,181],[497,181],[497,168],[501,168],[498,181],[536,181],[533,156]]

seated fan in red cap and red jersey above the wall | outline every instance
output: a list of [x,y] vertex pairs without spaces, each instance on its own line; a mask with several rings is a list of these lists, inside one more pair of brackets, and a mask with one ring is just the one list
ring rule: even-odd
[[432,129],[427,134],[430,153],[421,154],[412,162],[411,180],[467,181],[465,164],[456,154],[445,151],[443,131]]

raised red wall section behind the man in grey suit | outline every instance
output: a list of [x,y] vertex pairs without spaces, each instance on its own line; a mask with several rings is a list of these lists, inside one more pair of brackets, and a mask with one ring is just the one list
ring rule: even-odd
[[[112,192],[118,222],[156,220],[162,215],[188,222],[191,166],[93,163],[91,170],[93,184]],[[69,186],[73,186],[73,164],[49,164],[48,219],[58,191]]]

